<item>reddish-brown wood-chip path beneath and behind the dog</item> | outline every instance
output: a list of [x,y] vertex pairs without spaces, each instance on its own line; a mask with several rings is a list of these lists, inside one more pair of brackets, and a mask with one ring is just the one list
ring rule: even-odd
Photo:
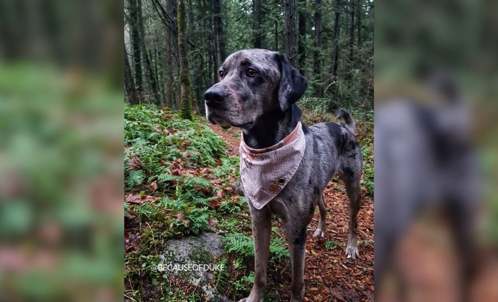
[[[239,154],[240,130],[223,130],[219,126],[210,128],[221,136],[228,145],[230,155]],[[358,243],[360,259],[346,258],[348,241],[349,202],[344,185],[331,181],[324,190],[324,201],[328,210],[326,237],[313,238],[318,224],[316,213],[310,224],[306,241],[305,260],[305,301],[373,301],[373,199],[366,194],[362,198],[362,208],[358,217]],[[285,239],[285,232],[279,221],[273,224]],[[326,241],[340,244],[333,250],[325,249]],[[288,301],[290,291],[290,266],[281,264],[268,269],[267,292],[279,301]],[[283,287],[282,287],[283,285]]]

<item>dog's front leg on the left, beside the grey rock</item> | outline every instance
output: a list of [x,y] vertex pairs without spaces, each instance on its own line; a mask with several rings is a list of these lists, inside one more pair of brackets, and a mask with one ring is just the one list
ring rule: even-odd
[[271,210],[268,206],[255,209],[249,202],[254,240],[254,284],[248,298],[239,302],[263,302],[266,288],[266,269],[270,250]]

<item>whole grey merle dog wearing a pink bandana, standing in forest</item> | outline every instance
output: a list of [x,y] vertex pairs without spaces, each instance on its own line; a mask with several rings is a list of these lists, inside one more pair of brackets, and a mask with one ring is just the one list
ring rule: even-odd
[[[263,301],[272,214],[281,218],[288,240],[292,267],[290,300],[303,301],[307,226],[318,204],[320,219],[313,237],[325,236],[327,210],[322,192],[336,173],[344,180],[350,201],[346,256],[359,257],[356,237],[363,158],[355,137],[355,122],[348,111],[340,109],[338,119],[344,119],[344,125],[302,124],[301,111],[295,103],[307,87],[307,80],[286,55],[247,49],[225,60],[219,70],[219,82],[205,93],[208,121],[225,129],[242,129],[241,178],[252,219],[255,274],[249,297],[240,302]],[[297,139],[288,140],[292,142],[287,144],[285,141],[291,136]],[[265,170],[279,166],[271,160],[272,156],[283,156],[291,167]],[[267,179],[258,181],[258,175]],[[252,191],[253,187],[260,190]]]

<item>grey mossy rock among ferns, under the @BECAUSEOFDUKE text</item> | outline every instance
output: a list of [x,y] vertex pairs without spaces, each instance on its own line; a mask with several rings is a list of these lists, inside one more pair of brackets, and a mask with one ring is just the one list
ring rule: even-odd
[[[188,236],[179,240],[169,240],[164,243],[164,254],[159,260],[165,267],[171,265],[173,270],[166,270],[165,274],[174,274],[204,290],[213,302],[229,302],[228,298],[216,292],[210,285],[213,279],[214,265],[223,255],[222,236],[214,233],[201,233],[197,236]],[[177,265],[175,267],[175,265]],[[189,267],[190,265],[190,267]],[[195,270],[194,265],[211,266],[210,269]],[[170,266],[170,267],[171,267]],[[193,267],[192,267],[193,266]],[[176,268],[176,269],[175,269]]]

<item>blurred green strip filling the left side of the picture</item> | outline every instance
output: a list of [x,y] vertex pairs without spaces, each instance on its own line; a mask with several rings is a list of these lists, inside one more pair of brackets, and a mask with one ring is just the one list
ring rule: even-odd
[[0,1],[0,301],[122,299],[122,13]]

